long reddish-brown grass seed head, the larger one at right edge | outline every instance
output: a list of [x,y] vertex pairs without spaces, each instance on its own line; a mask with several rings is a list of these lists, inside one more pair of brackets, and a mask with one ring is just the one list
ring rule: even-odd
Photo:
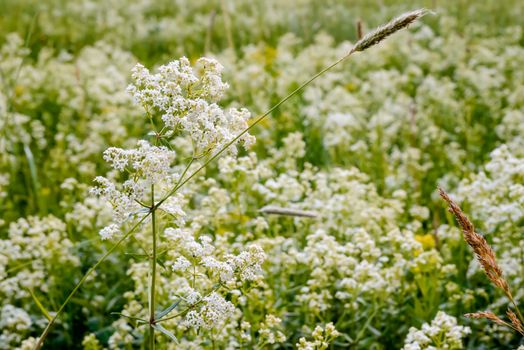
[[442,188],[439,188],[438,190],[442,199],[448,203],[448,210],[457,219],[458,224],[462,229],[464,240],[475,252],[477,260],[486,273],[486,276],[488,276],[489,280],[495,286],[502,289],[510,299],[513,299],[509,290],[508,282],[503,276],[502,269],[497,264],[497,259],[495,258],[493,249],[491,249],[488,242],[482,235],[475,232],[473,223],[469,220],[466,214],[464,214],[457,203],[455,203]]

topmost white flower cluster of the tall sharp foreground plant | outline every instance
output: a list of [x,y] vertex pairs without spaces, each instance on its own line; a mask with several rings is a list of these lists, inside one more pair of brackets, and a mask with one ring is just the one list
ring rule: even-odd
[[[159,112],[168,129],[190,135],[194,154],[201,155],[232,141],[248,127],[250,113],[234,108],[224,111],[216,104],[228,87],[222,82],[220,63],[201,58],[196,66],[192,68],[182,57],[151,74],[138,64],[128,91],[148,113]],[[254,137],[245,134],[241,141],[249,146]]]

